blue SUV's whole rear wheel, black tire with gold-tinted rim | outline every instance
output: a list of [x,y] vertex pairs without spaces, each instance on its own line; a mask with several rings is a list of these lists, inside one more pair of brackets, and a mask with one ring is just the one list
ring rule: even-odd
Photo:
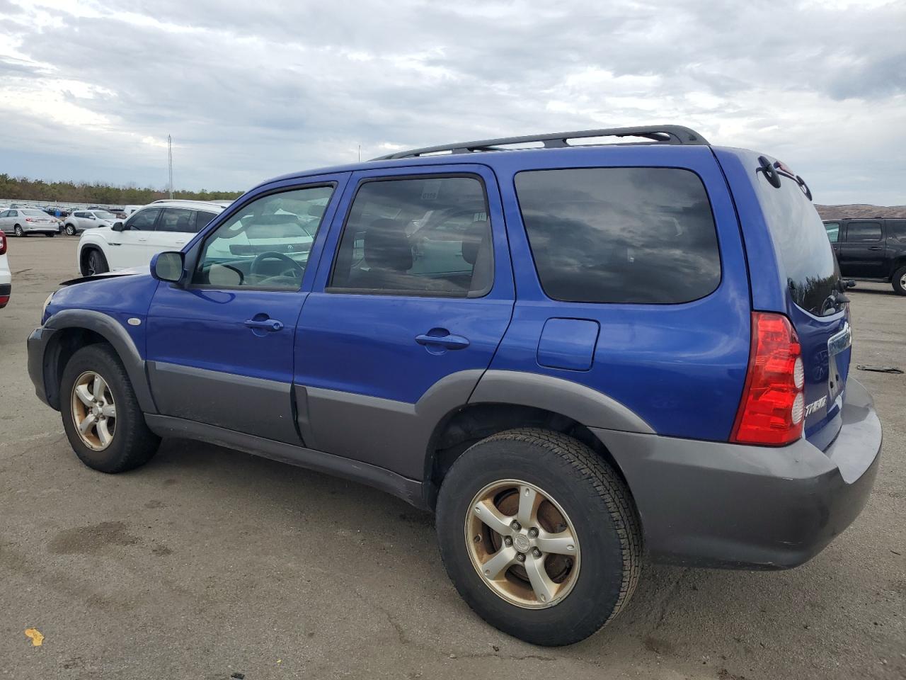
[[520,429],[478,442],[438,497],[440,554],[489,624],[535,645],[592,635],[629,601],[641,529],[629,490],[582,442]]

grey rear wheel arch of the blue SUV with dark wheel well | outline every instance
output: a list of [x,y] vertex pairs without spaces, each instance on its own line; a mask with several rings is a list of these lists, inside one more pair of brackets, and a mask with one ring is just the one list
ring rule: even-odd
[[583,442],[612,466],[627,487],[620,464],[592,428],[653,432],[622,403],[584,385],[543,374],[487,371],[468,403],[448,412],[429,437],[422,484],[425,505],[435,507],[440,483],[469,446],[497,432],[525,426],[562,432]]

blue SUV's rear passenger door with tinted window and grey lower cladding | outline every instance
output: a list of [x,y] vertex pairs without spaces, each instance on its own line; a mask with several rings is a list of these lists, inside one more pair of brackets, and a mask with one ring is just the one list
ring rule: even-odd
[[420,480],[431,428],[467,403],[513,304],[491,170],[354,173],[296,335],[305,441]]

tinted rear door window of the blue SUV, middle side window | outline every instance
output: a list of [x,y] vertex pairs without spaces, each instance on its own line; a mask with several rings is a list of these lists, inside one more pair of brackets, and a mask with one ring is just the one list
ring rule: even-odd
[[477,177],[368,181],[352,201],[327,291],[479,297],[494,258]]

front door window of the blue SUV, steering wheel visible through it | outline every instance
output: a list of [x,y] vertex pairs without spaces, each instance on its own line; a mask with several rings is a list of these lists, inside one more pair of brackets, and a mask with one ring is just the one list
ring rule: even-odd
[[197,286],[298,290],[333,185],[268,194],[238,209],[208,236]]

